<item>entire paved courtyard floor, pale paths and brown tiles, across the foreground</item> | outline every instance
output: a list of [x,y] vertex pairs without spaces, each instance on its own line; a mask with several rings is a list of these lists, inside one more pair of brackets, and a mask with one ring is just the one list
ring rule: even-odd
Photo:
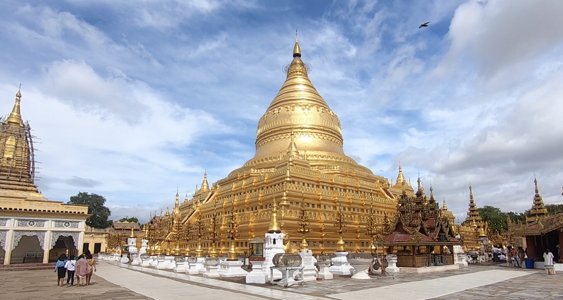
[[247,285],[241,278],[207,279],[120,263],[100,262],[95,284],[59,288],[53,271],[0,272],[0,299],[80,300],[352,300],[352,299],[559,299],[563,300],[563,274],[500,266],[469,266],[427,274],[396,274],[353,280],[310,281],[302,286]]

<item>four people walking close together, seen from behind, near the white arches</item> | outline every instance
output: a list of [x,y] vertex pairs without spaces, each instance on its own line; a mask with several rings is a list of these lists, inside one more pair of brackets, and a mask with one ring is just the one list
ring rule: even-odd
[[71,255],[68,259],[66,254],[61,254],[55,265],[55,272],[57,273],[57,286],[74,285],[74,277],[77,277],[78,286],[81,284],[89,285],[93,272],[96,272],[96,261],[93,259],[90,250],[75,259]]

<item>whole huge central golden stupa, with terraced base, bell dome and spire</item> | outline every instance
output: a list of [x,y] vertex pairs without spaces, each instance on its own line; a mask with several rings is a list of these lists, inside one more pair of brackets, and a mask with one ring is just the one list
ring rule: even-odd
[[[395,213],[396,196],[402,194],[405,178],[399,169],[397,184],[392,186],[387,178],[374,175],[344,153],[340,120],[313,86],[307,69],[296,39],[285,82],[258,120],[256,154],[211,188],[205,173],[202,188],[180,205],[182,223],[194,222],[200,214],[208,223],[215,213],[221,230],[225,230],[234,206],[240,231],[235,247],[244,253],[248,241],[263,238],[269,231],[275,199],[279,208],[273,213],[279,230],[289,239],[289,244],[288,240],[284,244],[298,247],[301,234],[297,223],[305,203],[311,228],[309,249],[315,253],[337,249],[334,222],[341,210],[348,224],[343,234],[345,248],[369,250],[370,238],[363,232],[370,203],[373,201],[377,221],[383,223],[385,213]],[[413,193],[410,184],[406,190]],[[167,218],[164,216],[163,222]],[[181,243],[185,249],[187,241]],[[195,239],[189,243],[190,249],[197,248]],[[229,250],[226,238],[217,243],[220,253]],[[203,247],[209,247],[209,241],[204,241]]]

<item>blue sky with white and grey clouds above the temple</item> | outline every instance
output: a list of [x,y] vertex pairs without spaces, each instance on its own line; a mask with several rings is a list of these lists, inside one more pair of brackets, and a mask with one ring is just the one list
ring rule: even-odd
[[[0,98],[22,82],[52,200],[112,217],[193,194],[254,154],[298,28],[344,150],[376,174],[421,173],[461,217],[524,211],[563,185],[560,1],[6,1]],[[521,20],[526,20],[522,22]],[[431,21],[430,26],[418,25]]]

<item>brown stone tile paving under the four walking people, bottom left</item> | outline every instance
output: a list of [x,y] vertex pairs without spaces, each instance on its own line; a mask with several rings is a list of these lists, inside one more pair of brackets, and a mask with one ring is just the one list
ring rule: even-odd
[[74,284],[69,288],[57,286],[53,270],[0,272],[0,299],[152,300],[95,275],[91,285],[78,287],[76,281]]

